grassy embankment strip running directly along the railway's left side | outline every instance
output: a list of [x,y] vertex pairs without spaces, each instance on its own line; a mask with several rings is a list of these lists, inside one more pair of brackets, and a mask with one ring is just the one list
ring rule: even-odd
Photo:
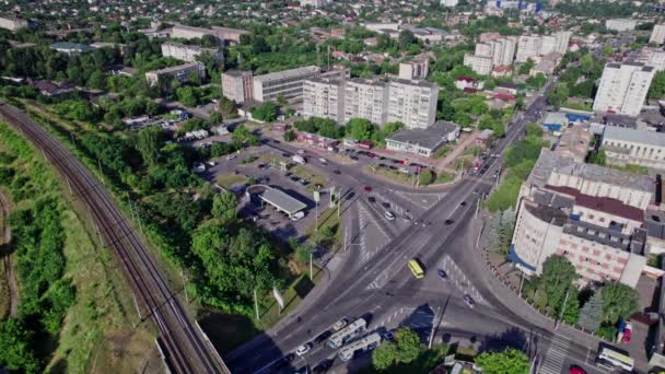
[[[0,147],[21,143],[20,136],[5,125],[0,125]],[[152,339],[154,331],[145,325],[132,326],[138,320],[129,296],[127,283],[120,279],[110,254],[100,247],[90,233],[92,227],[72,208],[85,212],[78,201],[65,196],[66,185],[55,172],[37,156],[28,152],[15,153],[12,166],[26,176],[32,195],[15,201],[16,208],[27,208],[39,195],[52,194],[62,204],[61,226],[65,234],[63,279],[75,289],[75,302],[67,311],[54,352],[46,372],[118,373],[142,370],[160,370],[161,364],[150,367],[148,361],[156,357]],[[72,203],[69,206],[68,203]]]

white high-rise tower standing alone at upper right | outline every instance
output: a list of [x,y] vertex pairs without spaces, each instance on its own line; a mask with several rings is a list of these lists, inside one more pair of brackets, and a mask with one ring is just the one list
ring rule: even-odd
[[605,65],[594,100],[594,110],[639,115],[654,74],[653,67],[641,62]]

